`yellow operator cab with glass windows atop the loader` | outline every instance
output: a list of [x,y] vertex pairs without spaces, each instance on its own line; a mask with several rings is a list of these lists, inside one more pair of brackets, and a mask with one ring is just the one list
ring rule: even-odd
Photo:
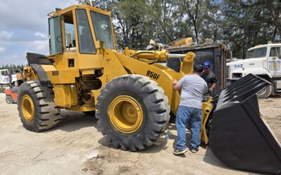
[[60,52],[96,54],[96,41],[115,48],[110,12],[93,6],[70,6],[49,14],[50,55]]

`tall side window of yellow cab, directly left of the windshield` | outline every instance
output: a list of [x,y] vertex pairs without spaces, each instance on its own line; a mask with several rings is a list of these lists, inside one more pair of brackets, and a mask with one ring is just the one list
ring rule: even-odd
[[79,41],[79,52],[80,53],[96,53],[95,45],[93,44],[93,36],[89,21],[87,18],[86,10],[77,9],[77,33]]

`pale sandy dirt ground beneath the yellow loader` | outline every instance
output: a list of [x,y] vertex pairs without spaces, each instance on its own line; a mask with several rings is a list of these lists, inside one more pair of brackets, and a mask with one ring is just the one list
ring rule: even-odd
[[[280,104],[281,97],[259,100],[261,114],[279,141]],[[58,127],[29,132],[20,123],[17,105],[6,104],[0,94],[0,174],[249,174],[229,169],[208,148],[173,155],[174,124],[168,141],[131,153],[108,146],[96,118],[66,110],[61,116]]]

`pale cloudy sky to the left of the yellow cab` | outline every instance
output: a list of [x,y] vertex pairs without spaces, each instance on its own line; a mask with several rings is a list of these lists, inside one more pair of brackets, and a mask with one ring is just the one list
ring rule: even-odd
[[0,0],[0,66],[27,64],[26,52],[48,55],[48,16],[76,0]]

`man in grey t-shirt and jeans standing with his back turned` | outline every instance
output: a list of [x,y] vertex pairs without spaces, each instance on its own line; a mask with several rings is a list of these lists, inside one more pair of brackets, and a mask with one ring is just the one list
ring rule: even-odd
[[185,144],[186,124],[190,125],[190,151],[196,153],[200,146],[200,131],[202,125],[202,99],[208,86],[202,76],[202,65],[195,65],[192,75],[185,75],[181,80],[174,80],[174,90],[181,90],[180,104],[176,114],[176,128],[178,141],[174,154],[183,154],[187,151]]

